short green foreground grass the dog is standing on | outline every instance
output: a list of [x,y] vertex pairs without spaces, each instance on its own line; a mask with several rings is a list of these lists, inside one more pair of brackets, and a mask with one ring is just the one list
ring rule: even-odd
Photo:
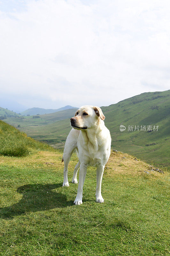
[[112,152],[102,181],[104,203],[95,202],[96,171],[89,167],[83,204],[75,206],[77,157],[69,164],[69,188],[62,187],[61,158],[61,150],[0,156],[0,255],[169,255],[167,171],[149,171],[133,156]]

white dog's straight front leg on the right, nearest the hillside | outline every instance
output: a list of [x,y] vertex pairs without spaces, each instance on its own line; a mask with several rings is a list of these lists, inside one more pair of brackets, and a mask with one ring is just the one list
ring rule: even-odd
[[104,199],[101,194],[101,185],[102,185],[102,177],[104,172],[104,166],[98,165],[96,170],[96,180],[97,180],[97,186],[96,186],[96,202],[97,203],[103,203]]

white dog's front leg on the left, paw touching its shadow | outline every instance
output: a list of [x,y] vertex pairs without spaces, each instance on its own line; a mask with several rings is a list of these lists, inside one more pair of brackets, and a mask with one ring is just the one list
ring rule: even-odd
[[78,185],[78,191],[77,196],[75,198],[74,204],[82,204],[82,198],[83,198],[83,184],[87,173],[87,165],[80,164],[80,173],[79,173],[79,185]]

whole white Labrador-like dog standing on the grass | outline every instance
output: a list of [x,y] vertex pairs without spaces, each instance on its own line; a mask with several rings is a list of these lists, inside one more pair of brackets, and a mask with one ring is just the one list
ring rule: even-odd
[[111,152],[111,136],[104,125],[105,116],[99,107],[82,106],[75,116],[70,119],[73,129],[66,139],[62,162],[64,161],[63,187],[69,187],[67,173],[68,164],[74,150],[78,153],[79,162],[73,173],[72,183],[78,183],[77,171],[80,167],[79,185],[74,204],[82,204],[83,184],[86,177],[87,167],[97,168],[96,202],[103,203],[101,183],[105,164]]

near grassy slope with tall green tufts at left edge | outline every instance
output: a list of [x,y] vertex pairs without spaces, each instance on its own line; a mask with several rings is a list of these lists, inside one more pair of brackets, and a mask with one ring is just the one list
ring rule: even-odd
[[53,150],[47,144],[27,137],[27,134],[0,120],[0,155],[27,156],[35,149]]

